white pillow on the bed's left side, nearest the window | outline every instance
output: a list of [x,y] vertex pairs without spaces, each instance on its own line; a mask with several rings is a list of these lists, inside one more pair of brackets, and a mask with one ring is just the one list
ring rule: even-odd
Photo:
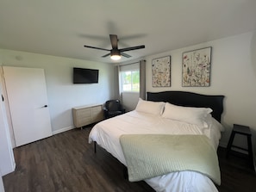
[[163,113],[164,107],[165,102],[150,102],[139,98],[139,102],[135,110],[151,115],[161,115]]

